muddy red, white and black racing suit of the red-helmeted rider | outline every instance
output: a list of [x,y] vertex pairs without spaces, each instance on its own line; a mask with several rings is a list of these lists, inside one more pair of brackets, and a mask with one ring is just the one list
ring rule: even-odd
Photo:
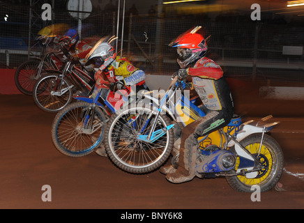
[[182,130],[178,169],[167,174],[172,183],[183,183],[195,177],[197,139],[227,125],[234,114],[234,105],[220,66],[206,57],[187,68],[195,91],[201,98],[206,116],[186,125]]

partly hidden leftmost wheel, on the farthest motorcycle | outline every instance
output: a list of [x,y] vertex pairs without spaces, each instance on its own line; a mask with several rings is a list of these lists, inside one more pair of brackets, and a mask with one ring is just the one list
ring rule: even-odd
[[[33,86],[36,84],[38,77],[36,77],[37,68],[40,60],[31,59],[20,64],[15,72],[15,85],[17,89],[25,95],[33,94]],[[47,68],[43,65],[43,69]]]

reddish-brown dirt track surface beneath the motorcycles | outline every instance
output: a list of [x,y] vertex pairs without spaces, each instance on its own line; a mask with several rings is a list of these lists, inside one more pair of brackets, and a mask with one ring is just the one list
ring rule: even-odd
[[[0,95],[0,208],[304,208],[303,101],[247,96],[236,95],[236,113],[273,114],[281,121],[273,137],[285,157],[280,192],[262,193],[256,202],[251,193],[232,190],[225,178],[174,185],[159,171],[127,174],[96,153],[63,155],[51,140],[55,114],[42,112],[29,96]],[[52,188],[52,201],[42,200],[43,185]]]

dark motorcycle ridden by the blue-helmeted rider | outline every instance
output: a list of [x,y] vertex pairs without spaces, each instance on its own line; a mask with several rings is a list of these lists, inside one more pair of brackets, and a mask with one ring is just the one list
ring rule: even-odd
[[69,60],[62,70],[47,70],[33,86],[33,100],[44,112],[59,112],[73,95],[89,95],[95,79],[78,61]]

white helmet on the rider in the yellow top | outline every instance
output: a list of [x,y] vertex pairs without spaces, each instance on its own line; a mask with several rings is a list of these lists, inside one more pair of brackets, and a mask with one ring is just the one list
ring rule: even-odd
[[102,38],[91,49],[89,54],[86,55],[88,63],[92,63],[95,68],[105,70],[116,58],[116,52],[111,43],[114,43],[115,36],[111,38]]

